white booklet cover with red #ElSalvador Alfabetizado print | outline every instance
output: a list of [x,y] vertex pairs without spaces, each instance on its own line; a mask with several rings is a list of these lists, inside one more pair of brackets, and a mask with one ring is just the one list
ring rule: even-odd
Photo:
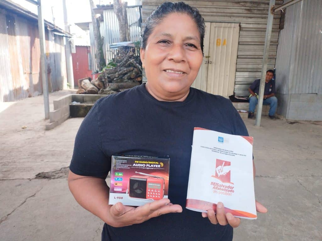
[[225,212],[256,219],[253,138],[194,128],[186,208],[206,212],[219,201]]

